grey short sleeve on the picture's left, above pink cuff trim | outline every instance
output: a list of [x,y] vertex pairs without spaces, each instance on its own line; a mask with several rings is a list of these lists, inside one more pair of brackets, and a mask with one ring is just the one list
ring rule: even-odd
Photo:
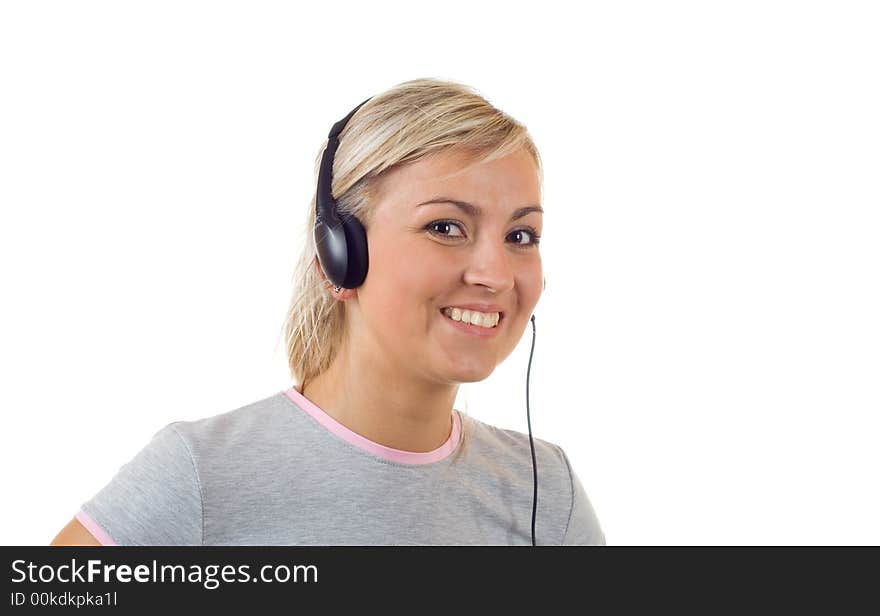
[[104,545],[202,545],[202,498],[190,448],[168,424],[81,505]]

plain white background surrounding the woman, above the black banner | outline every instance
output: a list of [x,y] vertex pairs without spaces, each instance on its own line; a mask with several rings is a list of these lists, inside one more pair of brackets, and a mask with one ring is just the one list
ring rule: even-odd
[[[0,543],[290,386],[322,141],[437,77],[541,151],[532,428],[608,543],[880,544],[872,4],[4,2]],[[527,432],[530,345],[459,408]]]

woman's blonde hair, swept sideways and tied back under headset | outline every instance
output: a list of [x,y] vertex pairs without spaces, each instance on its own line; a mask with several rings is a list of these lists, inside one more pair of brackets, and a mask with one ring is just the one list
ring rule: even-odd
[[[335,121],[331,120],[328,131]],[[314,186],[326,146],[327,140],[315,157]],[[340,213],[361,221],[369,241],[375,206],[372,197],[383,173],[454,150],[468,154],[469,160],[457,174],[522,148],[534,158],[543,186],[541,158],[524,125],[496,109],[473,88],[438,79],[414,79],[374,96],[349,119],[339,135],[331,192]],[[283,326],[290,374],[300,390],[306,381],[330,367],[345,333],[344,302],[328,292],[328,283],[315,265],[315,198],[313,192],[303,229],[304,248],[294,271]]]

